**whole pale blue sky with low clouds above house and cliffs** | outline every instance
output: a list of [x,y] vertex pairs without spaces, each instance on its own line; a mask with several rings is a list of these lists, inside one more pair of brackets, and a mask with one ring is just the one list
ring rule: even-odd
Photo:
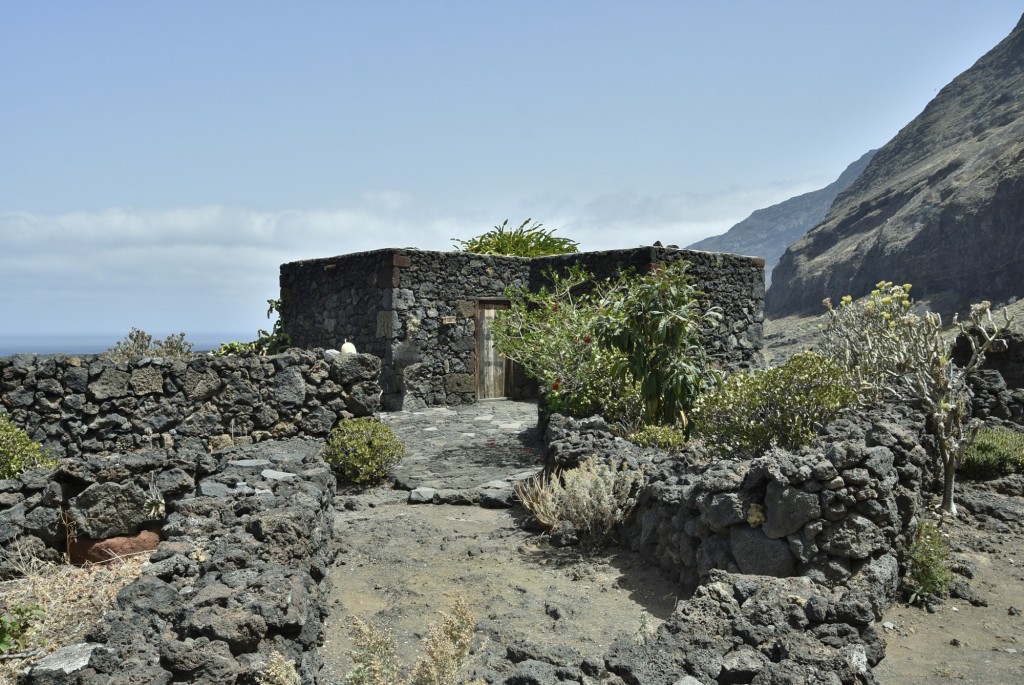
[[0,336],[255,335],[278,267],[509,218],[687,245],[1014,28],[940,0],[0,3]]

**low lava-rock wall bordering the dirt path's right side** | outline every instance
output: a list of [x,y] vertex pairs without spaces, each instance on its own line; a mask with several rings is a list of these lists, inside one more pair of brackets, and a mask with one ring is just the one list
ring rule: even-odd
[[935,483],[922,426],[891,406],[837,421],[799,453],[708,460],[554,417],[549,468],[591,454],[643,466],[623,541],[693,593],[653,638],[613,646],[608,669],[639,685],[874,682],[884,642],[873,624],[897,597]]

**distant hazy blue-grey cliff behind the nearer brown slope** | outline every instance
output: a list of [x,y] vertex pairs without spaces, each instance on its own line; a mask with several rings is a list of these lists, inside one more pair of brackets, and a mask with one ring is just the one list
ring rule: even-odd
[[836,196],[857,179],[876,152],[866,153],[825,187],[759,209],[721,236],[706,238],[689,249],[764,257],[765,283],[770,286],[771,271],[785,249],[825,218]]

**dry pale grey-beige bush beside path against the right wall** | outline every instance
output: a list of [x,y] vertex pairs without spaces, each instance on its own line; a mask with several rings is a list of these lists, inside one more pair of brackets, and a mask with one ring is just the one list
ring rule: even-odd
[[519,481],[515,490],[546,529],[569,523],[581,540],[600,545],[633,511],[642,478],[636,471],[625,466],[615,469],[593,456],[554,477]]

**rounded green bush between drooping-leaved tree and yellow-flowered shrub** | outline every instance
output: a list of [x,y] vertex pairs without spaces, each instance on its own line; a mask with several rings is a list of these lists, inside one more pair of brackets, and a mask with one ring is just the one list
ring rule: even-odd
[[701,395],[693,422],[712,449],[760,455],[773,445],[809,444],[856,400],[838,362],[801,352],[781,367],[732,374],[716,391]]

